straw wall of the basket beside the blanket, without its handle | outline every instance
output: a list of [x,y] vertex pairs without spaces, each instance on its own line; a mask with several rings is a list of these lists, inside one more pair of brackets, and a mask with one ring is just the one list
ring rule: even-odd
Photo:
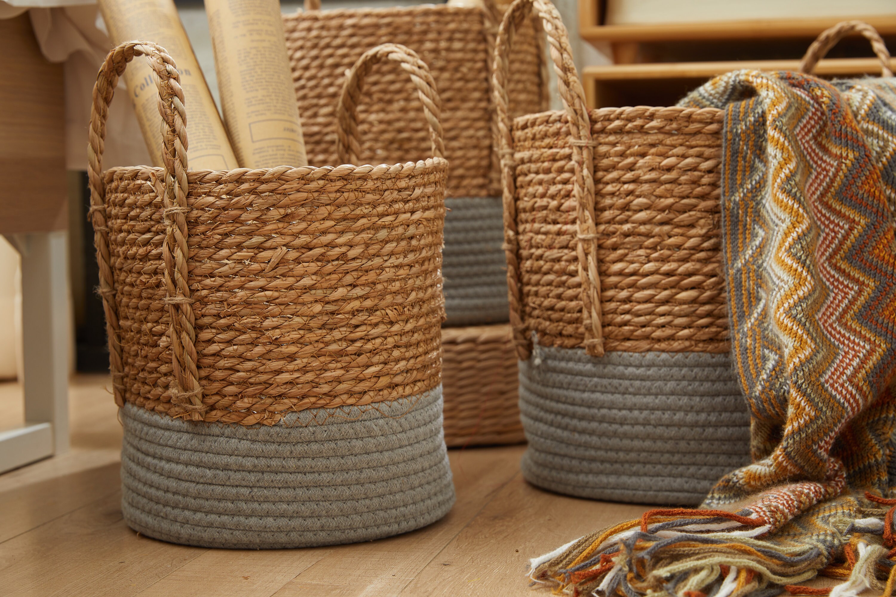
[[[582,345],[566,116],[513,124],[523,319],[538,344]],[[721,275],[722,112],[590,112],[605,348],[728,351]]]

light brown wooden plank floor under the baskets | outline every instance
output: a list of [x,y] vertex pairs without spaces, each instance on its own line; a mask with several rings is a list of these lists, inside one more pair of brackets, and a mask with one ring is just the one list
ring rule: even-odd
[[[71,386],[72,449],[0,475],[2,595],[549,595],[528,559],[640,506],[538,490],[523,448],[451,450],[457,503],[435,525],[391,539],[305,550],[206,550],[159,542],[122,520],[121,427],[105,376]],[[0,384],[2,427],[15,384]],[[13,413],[12,415],[8,415]]]

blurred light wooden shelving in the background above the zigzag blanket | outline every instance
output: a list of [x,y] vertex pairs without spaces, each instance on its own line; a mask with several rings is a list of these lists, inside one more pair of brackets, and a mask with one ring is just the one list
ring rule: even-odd
[[[892,0],[578,0],[582,44],[607,57],[582,64],[590,107],[669,106],[723,72],[796,70],[806,48],[840,21],[866,21],[896,47]],[[851,37],[818,64],[825,78],[875,75],[865,38]]]

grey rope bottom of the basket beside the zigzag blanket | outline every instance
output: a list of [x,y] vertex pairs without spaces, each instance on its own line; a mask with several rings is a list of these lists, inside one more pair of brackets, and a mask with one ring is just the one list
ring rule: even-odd
[[748,464],[750,419],[728,354],[535,345],[520,362],[523,476],[591,499],[699,504]]

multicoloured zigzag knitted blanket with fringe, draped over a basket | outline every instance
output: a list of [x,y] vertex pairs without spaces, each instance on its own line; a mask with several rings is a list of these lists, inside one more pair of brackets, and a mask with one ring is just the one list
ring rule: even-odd
[[532,560],[584,595],[765,597],[896,574],[896,80],[731,72],[682,102],[726,110],[722,237],[753,464],[702,509],[663,509]]

